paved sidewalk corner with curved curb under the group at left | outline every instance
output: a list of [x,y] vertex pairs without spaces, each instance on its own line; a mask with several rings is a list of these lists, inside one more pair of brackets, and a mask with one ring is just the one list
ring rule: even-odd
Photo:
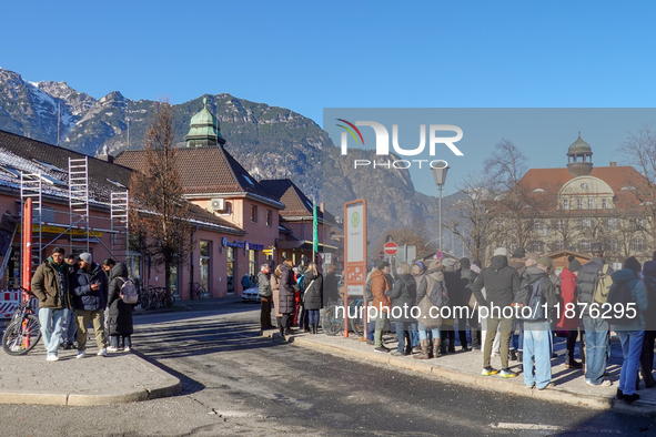
[[180,379],[132,353],[97,356],[93,346],[82,359],[77,349],[59,350],[59,362],[46,360],[39,342],[29,354],[0,350],[0,404],[107,405],[174,396]]

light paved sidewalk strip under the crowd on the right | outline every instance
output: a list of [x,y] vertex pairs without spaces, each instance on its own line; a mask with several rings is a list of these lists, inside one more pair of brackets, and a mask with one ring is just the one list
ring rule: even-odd
[[[265,331],[262,334],[266,337],[277,337],[276,331]],[[457,335],[456,335],[457,337]],[[612,357],[607,366],[609,379],[613,382],[610,387],[591,387],[585,384],[583,373],[579,369],[565,368],[565,342],[556,339],[554,345],[558,358],[552,359],[552,375],[555,387],[538,390],[529,389],[524,385],[523,374],[516,378],[501,378],[496,376],[481,376],[483,367],[483,355],[481,350],[471,350],[466,353],[457,352],[447,354],[434,359],[414,359],[412,356],[394,357],[390,354],[376,353],[373,346],[367,345],[360,337],[352,333],[349,338],[343,336],[327,336],[323,333],[312,335],[299,333],[289,336],[289,342],[294,345],[320,349],[334,355],[344,355],[352,358],[366,359],[374,363],[387,364],[390,366],[403,369],[421,372],[433,376],[447,379],[457,384],[474,385],[477,387],[492,389],[512,395],[528,396],[544,400],[558,402],[585,406],[596,409],[609,409],[620,411],[630,411],[639,414],[656,414],[656,388],[645,388],[640,382],[640,389],[637,392],[640,399],[632,406],[624,402],[615,402],[619,372],[622,368],[622,352],[619,344],[612,343]],[[385,343],[387,347],[396,348],[396,336],[386,335]],[[578,346],[577,346],[578,347]],[[456,346],[456,350],[460,346]],[[578,349],[576,349],[578,350]],[[515,372],[519,372],[518,362],[509,362]],[[501,368],[501,358],[492,358],[492,366]]]

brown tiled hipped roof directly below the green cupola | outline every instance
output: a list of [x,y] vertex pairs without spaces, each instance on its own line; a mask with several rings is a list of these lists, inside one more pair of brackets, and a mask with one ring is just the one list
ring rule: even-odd
[[[139,170],[145,152],[124,151],[115,162]],[[277,203],[258,181],[222,146],[181,148],[175,157],[182,189],[188,195],[213,193],[250,193]],[[283,207],[283,205],[280,205]]]

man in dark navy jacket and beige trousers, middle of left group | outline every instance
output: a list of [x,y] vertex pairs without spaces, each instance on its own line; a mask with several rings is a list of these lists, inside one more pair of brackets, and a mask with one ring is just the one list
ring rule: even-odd
[[80,268],[73,280],[73,306],[78,317],[78,355],[75,358],[83,358],[87,349],[87,335],[89,322],[93,322],[95,333],[95,345],[100,349],[99,356],[107,355],[107,343],[104,339],[103,312],[108,299],[107,275],[95,264],[90,253],[80,254]]

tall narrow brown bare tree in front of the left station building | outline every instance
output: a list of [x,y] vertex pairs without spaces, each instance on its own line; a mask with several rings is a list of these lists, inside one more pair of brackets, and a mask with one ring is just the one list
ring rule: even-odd
[[141,236],[138,244],[155,265],[164,266],[168,296],[171,266],[188,263],[193,246],[174,144],[173,110],[169,102],[160,102],[144,139],[145,165],[133,173],[130,182],[130,224],[131,232]]

